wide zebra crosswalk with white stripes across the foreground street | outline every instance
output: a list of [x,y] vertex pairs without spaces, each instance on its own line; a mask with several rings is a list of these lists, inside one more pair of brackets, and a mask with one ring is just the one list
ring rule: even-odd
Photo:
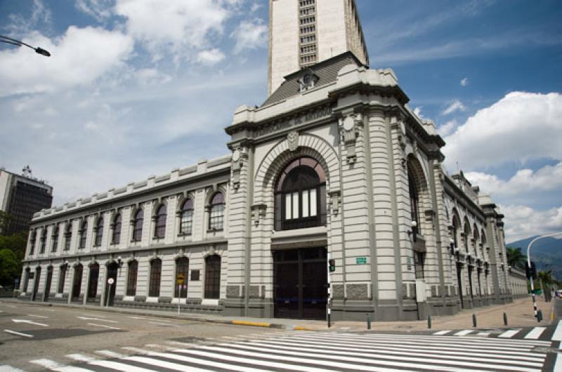
[[[543,371],[547,353],[533,339],[379,333],[275,333],[33,359],[48,371]],[[2,369],[0,371],[11,371]],[[14,370],[15,371],[15,370]]]

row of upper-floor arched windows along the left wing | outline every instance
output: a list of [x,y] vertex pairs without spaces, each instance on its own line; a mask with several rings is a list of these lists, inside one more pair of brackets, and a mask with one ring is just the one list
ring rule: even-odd
[[[179,234],[190,235],[193,228],[193,218],[194,218],[194,208],[193,200],[188,198],[183,201],[181,208],[178,211],[178,217],[180,219]],[[221,231],[224,225],[224,213],[225,213],[225,198],[222,192],[216,192],[211,198],[209,204],[209,230],[211,231]],[[167,207],[166,204],[160,204],[154,214],[153,220],[155,222],[153,237],[155,239],[162,239],[166,234],[166,218],[167,218]],[[132,226],[132,241],[141,241],[143,237],[143,223],[144,223],[144,211],[139,208],[136,213],[134,213],[131,219]],[[93,246],[100,246],[103,239],[103,226],[104,219],[100,217],[96,220],[96,225],[93,227]],[[122,232],[122,214],[117,213],[115,218],[113,218],[111,226],[111,240],[110,244],[119,244],[121,241]],[[81,223],[78,230],[78,248],[86,248],[86,237],[88,232],[88,221],[84,220]],[[58,247],[58,236],[59,227],[56,225],[53,228],[53,234],[51,237],[51,252],[56,252]],[[41,241],[39,253],[45,253],[46,247],[46,237],[47,229],[44,227],[41,232]],[[70,251],[70,243],[72,241],[72,223],[67,223],[65,227],[64,235],[64,251]],[[33,230],[30,236],[30,255],[34,254],[34,249],[37,244],[37,230]]]

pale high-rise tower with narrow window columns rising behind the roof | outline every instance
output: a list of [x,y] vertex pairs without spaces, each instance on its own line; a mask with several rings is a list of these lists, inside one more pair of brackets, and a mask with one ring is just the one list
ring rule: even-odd
[[268,95],[286,75],[346,51],[369,64],[355,0],[270,0],[269,26]]

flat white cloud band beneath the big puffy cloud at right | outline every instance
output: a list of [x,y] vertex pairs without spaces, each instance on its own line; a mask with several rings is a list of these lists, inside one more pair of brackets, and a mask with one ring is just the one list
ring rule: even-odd
[[465,175],[473,185],[499,197],[562,189],[562,162],[555,166],[544,166],[538,171],[521,169],[507,181],[500,180],[497,175],[482,172],[467,172]]

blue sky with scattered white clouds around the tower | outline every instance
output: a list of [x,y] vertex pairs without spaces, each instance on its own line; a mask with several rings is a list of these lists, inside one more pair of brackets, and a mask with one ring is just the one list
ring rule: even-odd
[[[322,1],[322,0],[320,0]],[[371,68],[505,214],[507,241],[562,232],[562,3],[357,0]],[[267,0],[0,0],[0,166],[54,205],[228,154],[267,94]]]

